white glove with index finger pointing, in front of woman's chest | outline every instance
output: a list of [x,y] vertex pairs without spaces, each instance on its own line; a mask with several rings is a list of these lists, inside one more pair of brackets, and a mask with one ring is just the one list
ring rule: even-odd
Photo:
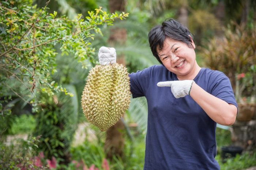
[[181,98],[189,95],[192,83],[194,80],[177,80],[177,81],[167,81],[158,82],[158,87],[171,87],[172,93],[175,98]]

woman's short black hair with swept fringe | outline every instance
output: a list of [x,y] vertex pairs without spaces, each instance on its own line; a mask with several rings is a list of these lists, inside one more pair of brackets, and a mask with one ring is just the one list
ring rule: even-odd
[[188,28],[173,18],[166,19],[163,21],[162,25],[153,27],[148,33],[148,42],[153,55],[161,64],[163,63],[160,60],[157,51],[163,50],[163,41],[166,38],[170,38],[175,41],[181,41],[182,43],[187,44],[190,48],[193,48],[191,44],[192,40],[195,43],[193,35],[188,30]]

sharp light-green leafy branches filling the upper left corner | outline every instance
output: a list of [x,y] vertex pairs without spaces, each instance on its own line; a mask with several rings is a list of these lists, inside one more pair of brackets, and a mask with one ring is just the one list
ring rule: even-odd
[[[99,25],[112,25],[115,19],[124,19],[128,13],[108,13],[101,7],[79,14],[74,19],[48,13],[46,6],[38,9],[31,0],[1,1],[0,3],[0,95],[15,96],[36,105],[35,91],[54,95],[65,88],[52,81],[56,72],[54,47],[60,44],[62,54],[72,54],[86,68],[94,63],[91,41],[95,34],[102,35]],[[31,95],[32,94],[32,95]],[[0,114],[8,115],[10,108],[0,102]]]

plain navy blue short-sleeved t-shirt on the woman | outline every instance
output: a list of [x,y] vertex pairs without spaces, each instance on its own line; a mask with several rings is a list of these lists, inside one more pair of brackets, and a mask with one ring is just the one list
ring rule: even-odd
[[[129,74],[133,98],[145,96],[148,125],[144,170],[220,169],[215,160],[216,122],[187,95],[176,99],[162,81],[178,80],[162,65]],[[237,106],[225,74],[202,68],[194,79],[208,93]]]

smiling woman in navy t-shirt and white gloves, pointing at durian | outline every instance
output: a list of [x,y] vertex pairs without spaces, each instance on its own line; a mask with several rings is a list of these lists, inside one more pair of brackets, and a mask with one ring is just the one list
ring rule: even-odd
[[220,169],[216,125],[230,126],[237,115],[230,80],[197,64],[192,34],[174,19],[148,40],[161,65],[129,74],[133,98],[148,104],[144,170]]

